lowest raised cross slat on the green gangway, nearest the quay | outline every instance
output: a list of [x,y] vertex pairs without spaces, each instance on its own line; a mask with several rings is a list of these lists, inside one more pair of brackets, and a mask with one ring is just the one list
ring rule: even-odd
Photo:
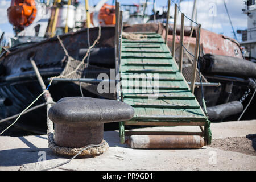
[[131,104],[133,107],[144,107],[144,108],[169,108],[169,109],[199,109],[200,106],[191,106],[187,104],[154,104],[154,103],[141,103],[135,102]]

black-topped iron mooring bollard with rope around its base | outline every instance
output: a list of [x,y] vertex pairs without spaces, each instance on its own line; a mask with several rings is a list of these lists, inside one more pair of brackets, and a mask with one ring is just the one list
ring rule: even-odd
[[104,123],[128,121],[133,115],[133,107],[128,104],[90,97],[62,98],[48,112],[55,123],[55,143],[75,148],[100,144]]

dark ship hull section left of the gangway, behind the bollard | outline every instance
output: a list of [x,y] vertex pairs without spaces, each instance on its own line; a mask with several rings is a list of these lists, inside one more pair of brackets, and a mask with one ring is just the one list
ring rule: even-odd
[[[88,69],[86,78],[97,78],[97,75],[105,72],[109,75],[114,68],[114,27],[101,27],[101,38],[90,53],[89,62],[92,68]],[[76,60],[82,60],[88,50],[87,30],[81,30],[72,34],[61,35],[65,49],[69,56]],[[90,45],[99,35],[99,28],[89,30]],[[25,47],[10,49],[1,57],[0,65],[0,119],[10,117],[23,111],[36,97],[42,93],[42,88],[36,78],[29,57],[35,54],[34,61],[46,85],[48,78],[59,76],[67,63],[67,56],[61,47],[59,40],[50,38],[42,42],[28,44]],[[97,70],[94,68],[97,67]],[[81,96],[79,85],[73,82],[52,82],[49,92],[54,101],[63,97]],[[86,97],[103,98],[100,94],[90,92],[82,88],[82,94]],[[43,97],[35,102],[36,106],[46,102]],[[40,107],[30,113],[22,115],[14,125],[14,130],[24,130],[28,133],[45,134],[46,107]],[[10,125],[15,119],[1,123],[2,127]],[[117,127],[116,127],[117,129]]]

